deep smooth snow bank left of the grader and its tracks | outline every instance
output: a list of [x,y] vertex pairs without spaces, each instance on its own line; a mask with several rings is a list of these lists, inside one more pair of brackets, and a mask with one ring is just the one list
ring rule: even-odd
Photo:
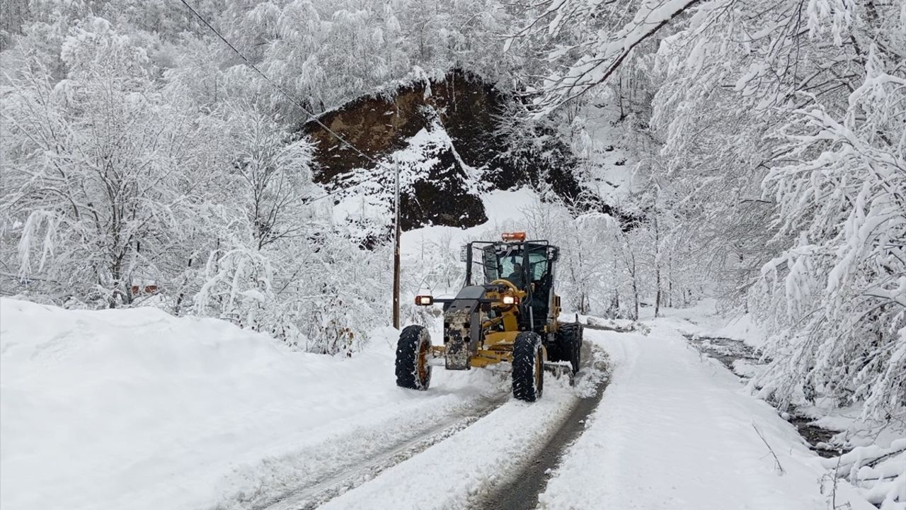
[[407,392],[389,340],[330,358],[158,309],[0,299],[0,353],[4,510],[210,506],[268,457],[487,387],[440,373],[447,391]]

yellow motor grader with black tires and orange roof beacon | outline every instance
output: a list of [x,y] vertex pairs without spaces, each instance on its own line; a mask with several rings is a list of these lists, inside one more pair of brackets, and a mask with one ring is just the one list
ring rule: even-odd
[[468,243],[462,253],[466,285],[457,296],[415,298],[419,306],[443,305],[443,345],[431,345],[428,329],[421,326],[403,329],[396,351],[397,386],[428,389],[433,366],[468,370],[507,362],[513,397],[534,402],[544,389],[545,370],[572,378],[579,370],[583,330],[558,320],[554,266],[559,251],[546,240],[525,240],[525,232]]

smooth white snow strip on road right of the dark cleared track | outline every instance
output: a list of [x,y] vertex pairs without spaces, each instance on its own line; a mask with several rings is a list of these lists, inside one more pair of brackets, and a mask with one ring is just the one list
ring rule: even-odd
[[[541,507],[825,510],[824,469],[795,428],[689,348],[680,329],[692,324],[653,324],[648,335],[586,332],[610,354],[612,381]],[[850,488],[837,491],[840,505]]]

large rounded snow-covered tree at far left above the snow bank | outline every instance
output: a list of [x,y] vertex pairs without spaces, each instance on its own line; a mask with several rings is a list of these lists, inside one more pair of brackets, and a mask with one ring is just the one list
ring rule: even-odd
[[17,49],[4,85],[3,203],[23,281],[113,307],[155,276],[172,242],[194,126],[159,95],[142,47],[102,18],[89,28],[64,39],[60,81]]

